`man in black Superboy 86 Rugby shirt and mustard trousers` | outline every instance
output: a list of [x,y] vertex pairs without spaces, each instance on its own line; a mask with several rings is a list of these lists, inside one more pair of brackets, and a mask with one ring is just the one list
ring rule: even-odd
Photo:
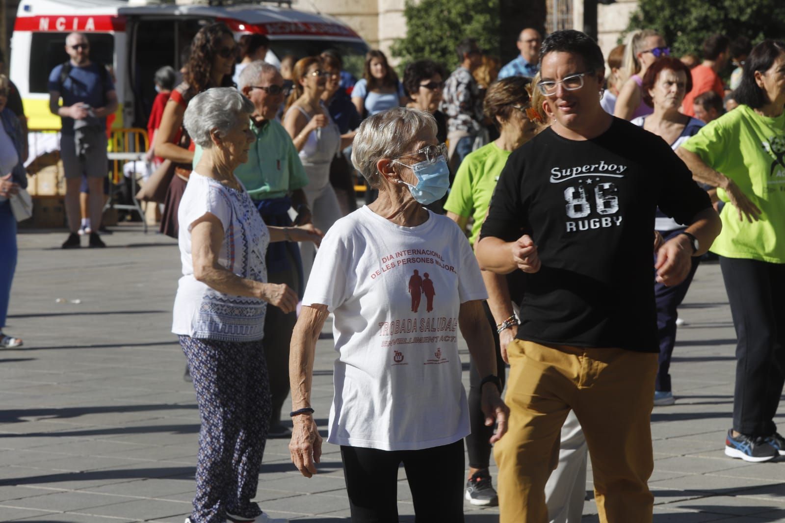
[[517,339],[507,348],[506,436],[496,444],[502,523],[545,522],[560,428],[575,411],[592,456],[601,521],[652,521],[652,411],[658,338],[655,209],[688,225],[658,251],[675,285],[720,231],[668,145],[603,111],[602,53],[579,31],[542,44],[553,125],[509,156],[476,247],[483,269],[522,270]]

